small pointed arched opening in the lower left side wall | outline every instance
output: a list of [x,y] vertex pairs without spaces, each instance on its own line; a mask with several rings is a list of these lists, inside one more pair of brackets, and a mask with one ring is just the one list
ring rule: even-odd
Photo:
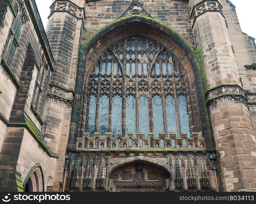
[[31,169],[32,173],[27,175],[25,179],[24,191],[25,192],[43,192],[43,173],[40,166]]

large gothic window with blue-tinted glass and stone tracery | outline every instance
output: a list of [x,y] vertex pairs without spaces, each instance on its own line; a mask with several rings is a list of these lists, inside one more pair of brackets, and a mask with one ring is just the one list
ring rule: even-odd
[[91,137],[95,131],[101,137],[107,132],[191,137],[184,72],[173,53],[153,39],[134,35],[112,44],[96,60],[86,92],[85,132]]

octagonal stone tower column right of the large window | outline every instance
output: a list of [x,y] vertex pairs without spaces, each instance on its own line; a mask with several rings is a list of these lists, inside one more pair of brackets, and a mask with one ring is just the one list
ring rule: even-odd
[[256,190],[256,139],[218,0],[189,0],[207,105],[218,155],[221,191]]

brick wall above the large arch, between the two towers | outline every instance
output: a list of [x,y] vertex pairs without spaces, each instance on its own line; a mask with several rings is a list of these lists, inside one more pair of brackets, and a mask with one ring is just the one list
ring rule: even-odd
[[[85,30],[83,40],[95,31],[119,18],[132,0],[101,0],[85,5]],[[175,29],[193,45],[193,31],[187,2],[172,0],[140,0],[142,7],[156,20]]]

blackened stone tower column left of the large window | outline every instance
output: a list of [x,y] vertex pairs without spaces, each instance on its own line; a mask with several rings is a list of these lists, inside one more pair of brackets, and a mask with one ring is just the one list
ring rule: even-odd
[[62,191],[65,153],[74,104],[74,84],[81,33],[84,0],[54,0],[47,25],[47,37],[54,56],[43,133],[52,153],[58,154],[53,191]]

